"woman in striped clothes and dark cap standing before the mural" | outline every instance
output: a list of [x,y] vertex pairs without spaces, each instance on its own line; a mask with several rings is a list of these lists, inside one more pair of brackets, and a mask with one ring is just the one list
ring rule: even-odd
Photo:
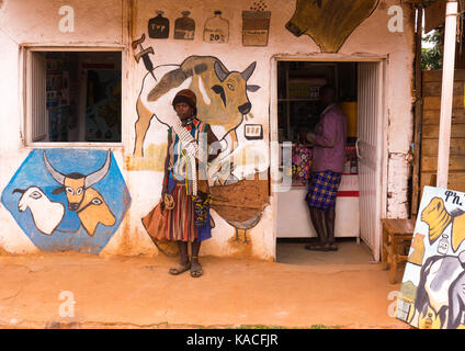
[[[179,91],[172,105],[182,127],[170,127],[168,131],[168,151],[161,196],[165,199],[166,194],[170,194],[174,202],[172,210],[165,211],[166,238],[178,242],[181,261],[177,267],[171,268],[169,273],[178,275],[190,270],[191,276],[199,278],[203,274],[199,262],[201,244],[212,237],[208,206],[211,196],[206,172],[202,172],[206,167],[200,168],[199,163],[211,162],[216,157],[209,155],[208,150],[209,146],[218,139],[209,125],[197,118],[196,97],[193,91],[189,89]],[[192,137],[186,136],[188,133]],[[193,154],[189,152],[191,143],[195,144],[197,149],[194,167],[191,167]],[[189,242],[192,245],[191,260],[188,256]]]

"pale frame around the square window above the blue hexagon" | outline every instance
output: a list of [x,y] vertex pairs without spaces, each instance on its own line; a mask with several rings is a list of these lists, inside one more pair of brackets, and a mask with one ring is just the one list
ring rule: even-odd
[[[117,52],[121,54],[121,141],[118,143],[95,143],[95,141],[33,141],[32,140],[32,114],[30,107],[29,87],[31,81],[31,55],[35,52]],[[127,109],[127,79],[124,79],[127,72],[127,52],[124,45],[105,46],[44,46],[44,45],[23,45],[21,47],[22,73],[23,79],[20,94],[22,95],[22,139],[25,148],[103,148],[103,149],[123,149],[126,135],[124,124],[124,114]]]

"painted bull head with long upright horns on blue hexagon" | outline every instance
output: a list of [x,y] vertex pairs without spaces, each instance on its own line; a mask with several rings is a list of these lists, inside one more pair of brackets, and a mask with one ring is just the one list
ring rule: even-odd
[[63,174],[54,169],[50,162],[47,159],[47,155],[44,151],[44,162],[50,176],[59,183],[61,186],[55,189],[53,194],[60,194],[64,191],[66,192],[66,197],[68,199],[68,210],[78,211],[81,207],[81,204],[84,200],[84,193],[92,185],[100,182],[109,172],[111,165],[111,154],[110,150],[106,154],[105,163],[95,172],[88,176],[72,172],[68,174]]

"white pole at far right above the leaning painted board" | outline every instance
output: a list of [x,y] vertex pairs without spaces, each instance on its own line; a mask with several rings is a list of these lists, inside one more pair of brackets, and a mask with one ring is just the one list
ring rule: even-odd
[[454,90],[457,1],[449,0],[445,10],[444,56],[442,63],[441,120],[439,125],[438,188],[447,188],[451,145],[452,99]]

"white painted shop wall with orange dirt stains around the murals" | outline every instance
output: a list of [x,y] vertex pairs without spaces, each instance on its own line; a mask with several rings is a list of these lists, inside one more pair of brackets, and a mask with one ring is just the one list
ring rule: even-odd
[[[257,69],[249,83],[258,84],[258,92],[249,92],[252,102],[254,121],[264,128],[265,141],[270,133],[271,78],[273,57],[298,57],[315,59],[363,59],[366,57],[384,57],[387,60],[385,94],[388,113],[387,145],[388,150],[388,199],[387,215],[406,217],[408,162],[407,154],[412,135],[411,81],[413,60],[413,29],[410,9],[404,8],[404,33],[390,33],[387,27],[388,8],[398,4],[396,0],[381,1],[378,9],[363,22],[347,39],[340,52],[334,55],[320,54],[314,41],[303,35],[295,37],[285,29],[286,22],[295,10],[295,1],[265,1],[271,15],[270,39],[266,47],[245,47],[241,44],[241,11],[248,10],[251,0],[237,1],[149,1],[139,0],[136,9],[135,37],[147,33],[147,23],[156,15],[157,10],[165,12],[170,19],[170,38],[151,39],[144,47],[152,46],[156,55],[151,56],[155,66],[181,64],[190,55],[212,55],[218,57],[229,70],[241,71],[252,61]],[[140,217],[158,202],[161,191],[162,173],[144,170],[128,171],[134,148],[134,123],[137,120],[136,100],[146,70],[141,63],[136,65],[129,53],[129,31],[127,29],[127,3],[124,0],[84,1],[69,0],[66,4],[75,9],[75,33],[60,33],[58,22],[58,0],[5,0],[0,9],[0,190],[2,190],[14,171],[23,162],[30,147],[23,145],[23,109],[22,109],[22,50],[23,45],[75,45],[75,46],[122,46],[124,52],[123,76],[123,147],[114,147],[113,151],[120,169],[126,179],[133,202],[126,218],[102,254],[157,254],[140,224]],[[181,11],[191,11],[190,18],[195,20],[194,41],[174,41],[174,20]],[[205,21],[213,11],[222,10],[223,18],[229,21],[229,43],[209,44],[203,42],[202,32]],[[170,106],[167,106],[170,109]],[[166,143],[165,128],[154,120],[148,131],[147,143]],[[239,133],[239,135],[242,135]],[[146,145],[148,145],[146,143]],[[265,143],[266,146],[266,143]],[[266,150],[265,154],[268,154]],[[250,233],[253,246],[251,254],[271,259],[274,256],[273,208],[264,211],[261,222]],[[214,238],[202,247],[203,254],[228,256],[237,250],[228,244],[234,228],[214,214],[216,228]],[[10,252],[33,252],[35,247],[18,227],[10,213],[0,204],[0,245]]]

